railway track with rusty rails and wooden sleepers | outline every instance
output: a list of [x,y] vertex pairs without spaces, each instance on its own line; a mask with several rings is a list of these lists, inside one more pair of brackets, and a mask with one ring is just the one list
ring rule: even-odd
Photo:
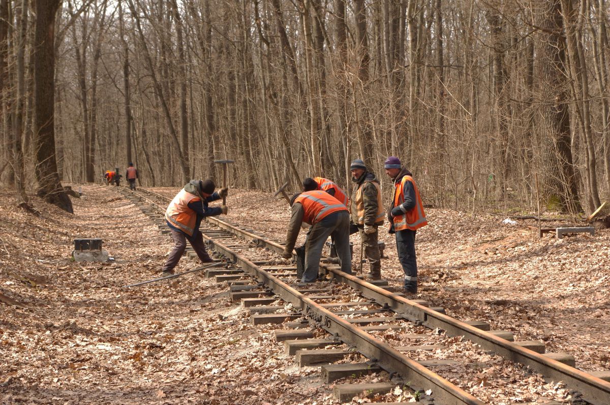
[[[119,191],[167,231],[163,213],[168,197],[141,188]],[[421,404],[488,403],[488,396],[478,398],[467,389],[501,386],[503,376],[488,372],[489,364],[482,364],[480,356],[470,358],[469,354],[479,351],[495,364],[520,364],[512,366],[517,370],[516,384],[539,373],[547,381],[565,384],[570,403],[610,404],[610,382],[606,381],[610,372],[578,370],[572,356],[545,353],[542,342],[514,342],[511,332],[491,331],[484,322],[461,322],[442,308],[428,308],[425,301],[393,293],[386,281],[375,285],[333,264],[320,264],[328,281],[304,285],[296,280],[292,266],[269,266],[247,257],[249,250],[281,253],[280,242],[217,217],[207,218],[201,231],[210,247],[235,266],[207,270],[207,276],[228,283],[231,300],[250,309],[253,323],[284,325],[276,330],[276,340],[284,342],[287,353],[295,355],[300,365],[325,363],[321,373],[326,383],[387,373],[387,382],[337,384],[337,400],[350,401],[363,391],[385,393],[400,386],[408,387]],[[292,312],[281,301],[292,305]],[[326,333],[321,339],[320,329]],[[540,393],[511,401],[553,403],[543,402],[545,398]]]

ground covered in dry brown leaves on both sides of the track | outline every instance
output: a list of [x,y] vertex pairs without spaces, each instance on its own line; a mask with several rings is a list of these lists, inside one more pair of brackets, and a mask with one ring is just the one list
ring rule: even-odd
[[[74,215],[33,197],[36,217],[1,193],[2,403],[334,403],[318,369],[299,369],[273,342],[274,326],[251,325],[249,311],[229,301],[226,284],[199,274],[121,289],[157,276],[171,239],[112,188],[83,188],[85,198],[73,199]],[[173,197],[178,189],[156,191]],[[285,237],[284,200],[232,190],[228,203],[228,219]],[[610,231],[539,239],[531,221],[505,225],[498,217],[445,210],[427,215],[431,225],[417,236],[418,298],[458,319],[513,331],[515,340],[544,340],[547,351],[573,354],[583,370],[610,368]],[[113,260],[71,261],[75,238],[102,238]],[[359,239],[352,238],[357,269]],[[382,275],[400,286],[393,236],[382,231],[380,240]],[[176,270],[196,266],[183,258]],[[501,367],[493,372],[511,371]],[[503,403],[481,394],[484,381],[471,392]],[[532,384],[539,390],[542,382]]]

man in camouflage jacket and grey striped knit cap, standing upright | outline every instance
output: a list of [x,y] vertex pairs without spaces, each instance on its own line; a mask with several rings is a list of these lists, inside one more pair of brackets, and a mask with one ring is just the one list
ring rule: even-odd
[[375,174],[367,170],[364,161],[356,159],[350,164],[351,180],[356,183],[350,197],[351,222],[356,225],[368,259],[370,280],[381,279],[381,253],[379,252],[379,227],[386,213],[381,201],[381,188]]

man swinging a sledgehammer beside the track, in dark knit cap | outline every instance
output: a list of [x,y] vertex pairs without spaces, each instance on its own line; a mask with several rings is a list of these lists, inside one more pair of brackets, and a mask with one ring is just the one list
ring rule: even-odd
[[187,240],[202,262],[213,261],[207,254],[199,225],[204,217],[226,215],[227,213],[226,205],[220,207],[209,207],[207,205],[209,202],[226,197],[228,194],[228,188],[221,188],[220,191],[214,192],[215,188],[216,185],[212,180],[191,180],[167,206],[165,219],[171,229],[174,248],[163,265],[163,276],[174,273],[174,267],[180,261],[182,253],[187,247]]

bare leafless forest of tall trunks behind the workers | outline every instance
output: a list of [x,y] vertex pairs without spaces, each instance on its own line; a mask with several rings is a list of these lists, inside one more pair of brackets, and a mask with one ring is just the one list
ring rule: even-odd
[[[142,185],[350,185],[400,157],[426,203],[594,211],[610,191],[606,0],[0,0],[0,177],[132,161]],[[382,186],[388,187],[384,179]],[[384,192],[384,194],[389,194]]]

